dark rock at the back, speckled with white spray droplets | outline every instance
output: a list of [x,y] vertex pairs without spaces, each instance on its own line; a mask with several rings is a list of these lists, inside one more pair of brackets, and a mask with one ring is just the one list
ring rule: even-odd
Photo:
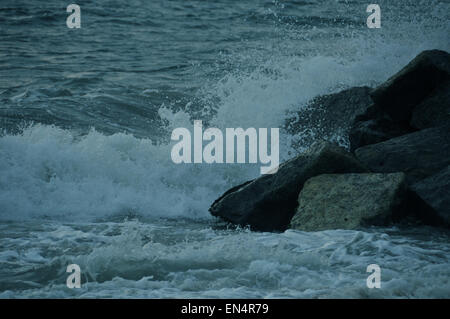
[[[349,145],[348,133],[355,118],[373,103],[369,87],[354,87],[338,93],[319,96],[286,121],[289,133],[300,133],[299,145],[335,140]],[[338,140],[337,137],[340,139]]]

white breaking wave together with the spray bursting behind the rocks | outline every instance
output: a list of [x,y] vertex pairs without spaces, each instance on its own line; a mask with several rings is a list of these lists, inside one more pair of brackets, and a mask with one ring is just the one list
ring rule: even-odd
[[[208,124],[221,129],[283,127],[289,112],[319,94],[379,83],[422,49],[436,47],[437,39],[442,49],[449,49],[440,32],[433,35],[419,44],[384,40],[374,51],[370,48],[376,38],[349,38],[338,45],[359,48],[358,54],[281,56],[251,72],[228,73],[199,93],[204,113],[213,114]],[[162,106],[159,114],[168,121],[168,136],[175,127],[192,128],[188,110],[172,112]],[[281,160],[295,154],[295,138],[282,130]],[[156,142],[95,130],[78,136],[39,124],[6,134],[0,137],[0,218],[208,218],[207,208],[221,192],[258,176],[259,165],[175,165],[171,144]]]

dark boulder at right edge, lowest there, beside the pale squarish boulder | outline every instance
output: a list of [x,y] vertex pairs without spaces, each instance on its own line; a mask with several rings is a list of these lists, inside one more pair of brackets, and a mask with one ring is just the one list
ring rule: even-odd
[[442,220],[443,226],[450,226],[450,166],[411,186]]

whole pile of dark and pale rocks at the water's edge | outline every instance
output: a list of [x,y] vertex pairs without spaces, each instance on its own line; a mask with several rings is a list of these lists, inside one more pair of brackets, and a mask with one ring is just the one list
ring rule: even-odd
[[[262,231],[289,225],[354,229],[411,219],[450,226],[447,52],[422,52],[374,90],[317,97],[286,128],[306,136],[302,148],[314,146],[276,174],[227,191],[212,204],[212,215]],[[354,156],[331,143],[314,144],[316,137],[349,144]]]

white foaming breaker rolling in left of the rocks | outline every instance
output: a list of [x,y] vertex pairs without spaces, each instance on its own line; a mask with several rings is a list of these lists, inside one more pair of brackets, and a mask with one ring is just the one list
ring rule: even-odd
[[[0,216],[95,220],[115,214],[208,217],[242,167],[175,165],[170,145],[35,125],[0,138]],[[218,178],[220,177],[220,178]]]

